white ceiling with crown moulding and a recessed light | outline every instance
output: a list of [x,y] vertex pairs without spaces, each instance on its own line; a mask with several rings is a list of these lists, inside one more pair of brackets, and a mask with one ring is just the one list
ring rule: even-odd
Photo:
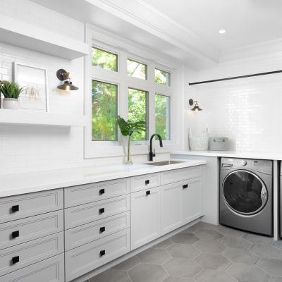
[[232,49],[282,39],[282,0],[32,1],[195,67],[218,63]]

